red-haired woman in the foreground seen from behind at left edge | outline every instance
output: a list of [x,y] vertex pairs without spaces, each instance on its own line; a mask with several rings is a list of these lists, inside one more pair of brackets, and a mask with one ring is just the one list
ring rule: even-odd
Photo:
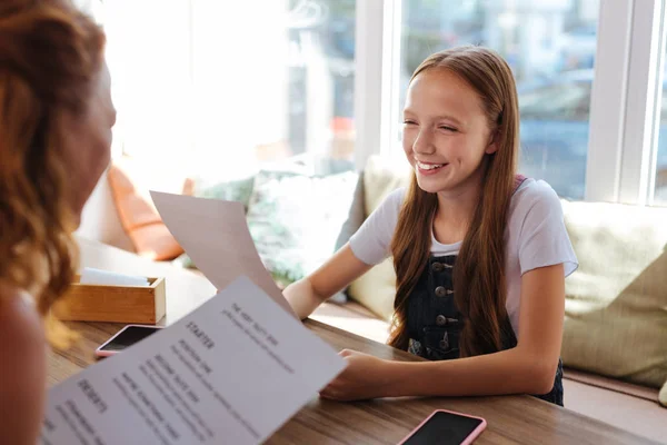
[[0,443],[38,441],[50,316],[76,270],[83,205],[110,159],[104,34],[69,0],[0,2]]

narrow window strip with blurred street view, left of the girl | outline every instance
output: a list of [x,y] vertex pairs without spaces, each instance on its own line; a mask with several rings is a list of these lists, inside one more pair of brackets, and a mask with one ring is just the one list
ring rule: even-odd
[[355,167],[355,3],[289,2],[287,151],[319,174]]

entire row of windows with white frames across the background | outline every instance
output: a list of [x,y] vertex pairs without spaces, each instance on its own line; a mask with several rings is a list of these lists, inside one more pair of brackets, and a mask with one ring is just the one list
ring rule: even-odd
[[156,170],[230,178],[296,158],[332,172],[400,155],[412,70],[472,43],[516,76],[521,172],[563,197],[667,202],[664,0],[102,4],[117,146]]

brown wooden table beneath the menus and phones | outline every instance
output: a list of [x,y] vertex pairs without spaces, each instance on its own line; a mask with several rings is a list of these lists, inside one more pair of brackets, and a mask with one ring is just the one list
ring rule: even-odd
[[[167,278],[167,317],[173,323],[216,293],[202,276],[158,264],[98,243],[80,239],[81,264],[118,273]],[[92,352],[121,325],[70,323],[81,340],[67,353],[50,353],[49,385],[62,382],[94,362]],[[351,348],[381,358],[416,357],[315,320],[308,326],[335,349]],[[567,397],[567,395],[566,395]],[[313,398],[267,442],[269,444],[396,444],[434,409],[481,416],[488,427],[478,444],[650,444],[611,425],[530,396],[461,398],[390,398],[337,403]]]

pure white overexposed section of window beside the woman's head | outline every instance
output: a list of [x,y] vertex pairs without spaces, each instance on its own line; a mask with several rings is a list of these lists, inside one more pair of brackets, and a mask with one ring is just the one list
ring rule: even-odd
[[[103,3],[122,152],[230,178],[287,137],[286,0]],[[160,180],[160,178],[157,178]]]

